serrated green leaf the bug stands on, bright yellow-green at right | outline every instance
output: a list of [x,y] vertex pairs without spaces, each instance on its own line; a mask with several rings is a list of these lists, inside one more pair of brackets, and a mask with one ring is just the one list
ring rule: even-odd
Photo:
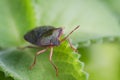
[[37,64],[32,70],[29,66],[33,62],[35,50],[17,50],[10,48],[0,52],[0,67],[7,76],[15,80],[87,80],[83,71],[83,63],[79,61],[79,54],[74,53],[65,42],[54,48],[53,60],[58,67],[59,76],[48,60],[49,51],[37,57]]

